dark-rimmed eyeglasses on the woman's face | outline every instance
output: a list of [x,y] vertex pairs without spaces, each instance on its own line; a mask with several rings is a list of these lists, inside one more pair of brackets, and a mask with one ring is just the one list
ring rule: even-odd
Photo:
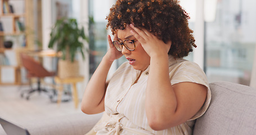
[[129,39],[127,39],[127,40],[124,40],[124,42],[119,42],[119,41],[117,41],[117,40],[114,40],[114,41],[113,41],[113,44],[114,44],[116,50],[118,50],[118,51],[120,51],[120,52],[122,51],[123,46],[124,46],[125,48],[127,48],[127,50],[129,50],[129,51],[134,51],[134,50],[135,50],[135,44],[134,44],[134,42],[135,42],[136,40],[137,40],[137,39],[135,39],[135,40],[129,40]]

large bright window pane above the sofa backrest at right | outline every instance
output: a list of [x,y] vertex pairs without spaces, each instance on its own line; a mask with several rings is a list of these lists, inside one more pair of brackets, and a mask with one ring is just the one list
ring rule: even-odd
[[215,9],[205,6],[205,11],[215,12],[205,20],[209,82],[224,80],[249,85],[256,44],[255,6],[256,1],[251,0],[218,0]]

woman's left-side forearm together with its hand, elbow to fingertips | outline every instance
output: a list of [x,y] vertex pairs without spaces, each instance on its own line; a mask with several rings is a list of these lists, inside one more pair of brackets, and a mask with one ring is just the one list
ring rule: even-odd
[[[109,40],[109,50],[107,50],[84,91],[81,109],[86,114],[98,114],[105,110],[104,99],[107,88],[107,74],[113,61],[122,56],[122,53],[114,47],[110,35],[107,36],[107,39]],[[114,35],[114,40],[118,40],[117,35]]]

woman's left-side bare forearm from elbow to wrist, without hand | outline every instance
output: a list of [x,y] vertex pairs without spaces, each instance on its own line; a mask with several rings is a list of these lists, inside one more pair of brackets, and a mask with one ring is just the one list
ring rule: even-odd
[[84,113],[96,114],[104,111],[106,78],[111,64],[112,62],[104,57],[89,80],[81,104]]

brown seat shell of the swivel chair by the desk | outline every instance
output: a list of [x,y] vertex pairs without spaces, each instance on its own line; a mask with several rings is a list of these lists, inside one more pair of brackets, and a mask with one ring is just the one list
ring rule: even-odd
[[25,53],[21,53],[20,55],[23,66],[28,71],[29,76],[43,78],[54,75],[54,73],[47,71],[42,64],[35,61],[32,57],[25,55]]

